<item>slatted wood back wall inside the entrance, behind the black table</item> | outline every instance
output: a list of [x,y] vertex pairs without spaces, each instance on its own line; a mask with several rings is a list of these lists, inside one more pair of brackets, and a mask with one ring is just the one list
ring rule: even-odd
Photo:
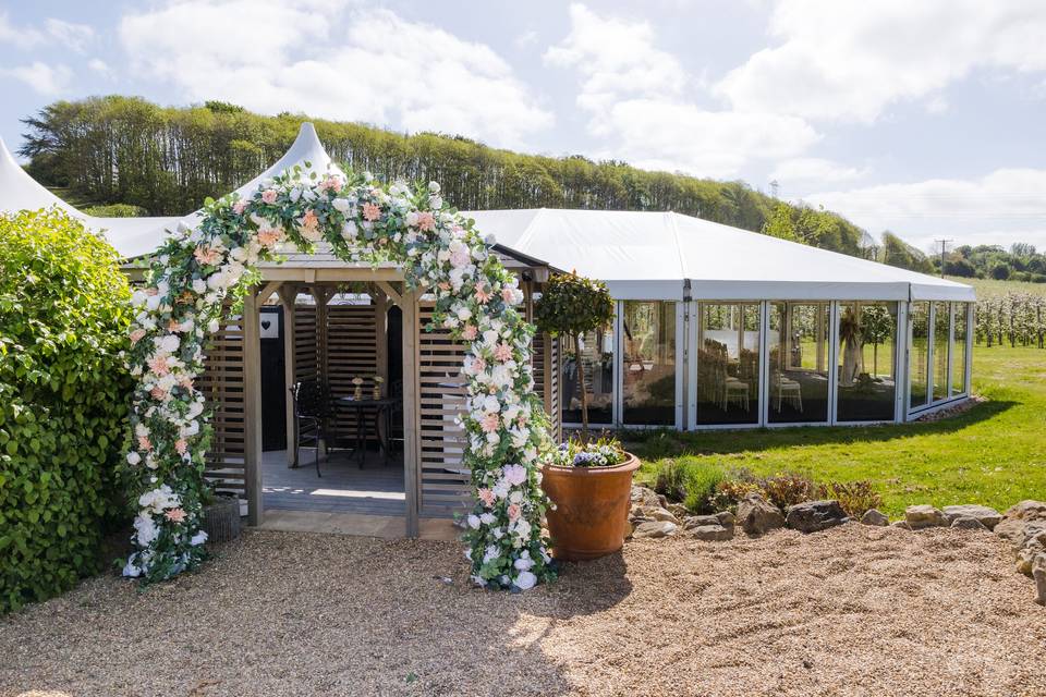
[[[324,376],[330,384],[331,396],[351,395],[355,389],[352,384],[355,377],[364,379],[364,395],[370,396],[373,377],[377,375],[377,306],[373,301],[370,305],[327,306],[326,350]],[[387,389],[385,393],[388,393]],[[338,409],[332,430],[336,438],[352,439],[354,442],[356,411]],[[369,426],[367,433],[374,437]]]

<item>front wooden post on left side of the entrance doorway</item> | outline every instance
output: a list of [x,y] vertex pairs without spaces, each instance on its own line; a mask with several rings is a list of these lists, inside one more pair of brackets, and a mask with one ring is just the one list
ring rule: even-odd
[[243,298],[243,438],[244,477],[247,489],[247,524],[260,525],[262,500],[262,322],[257,289]]

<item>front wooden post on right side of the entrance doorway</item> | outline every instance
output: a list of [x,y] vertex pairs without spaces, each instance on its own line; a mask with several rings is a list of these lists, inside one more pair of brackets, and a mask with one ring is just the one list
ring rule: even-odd
[[417,303],[418,292],[403,294],[403,488],[406,494],[406,536],[417,537],[421,479]]

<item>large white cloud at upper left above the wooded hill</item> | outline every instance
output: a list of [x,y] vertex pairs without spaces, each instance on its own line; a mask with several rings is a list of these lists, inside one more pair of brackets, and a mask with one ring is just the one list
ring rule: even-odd
[[[192,100],[520,146],[552,115],[490,47],[345,0],[190,0],[127,15],[132,63]],[[323,11],[318,11],[323,10]]]

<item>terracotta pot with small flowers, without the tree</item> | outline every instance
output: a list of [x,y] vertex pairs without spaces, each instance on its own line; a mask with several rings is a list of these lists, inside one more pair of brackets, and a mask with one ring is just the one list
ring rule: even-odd
[[546,513],[556,559],[597,559],[621,549],[638,468],[635,455],[608,438],[571,439],[546,457],[542,488],[556,504]]

